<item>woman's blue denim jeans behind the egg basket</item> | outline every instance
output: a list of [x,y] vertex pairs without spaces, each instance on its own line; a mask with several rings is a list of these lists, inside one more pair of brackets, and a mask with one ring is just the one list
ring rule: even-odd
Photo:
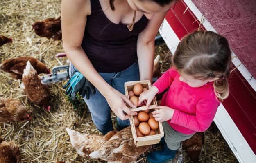
[[[75,66],[70,64],[69,75],[71,76],[74,71],[78,70],[75,68]],[[133,65],[121,72],[99,74],[109,85],[111,85],[122,94],[125,94],[125,82],[136,81],[140,79],[138,62],[135,62]],[[96,89],[95,95],[90,93],[90,99],[87,100],[86,97],[84,97],[84,101],[91,112],[93,123],[95,124],[97,129],[103,134],[112,131],[113,124],[110,114],[111,108],[109,107],[109,104],[107,103],[105,97],[103,97],[102,94]],[[130,125],[129,119],[122,121],[117,117],[117,121],[120,127],[126,127]]]

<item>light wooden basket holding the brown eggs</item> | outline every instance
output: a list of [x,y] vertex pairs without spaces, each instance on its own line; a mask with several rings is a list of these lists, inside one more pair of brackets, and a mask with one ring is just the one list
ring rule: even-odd
[[[150,84],[149,80],[125,82],[125,96],[126,97],[129,98],[128,91],[133,90],[134,85],[137,84],[137,83],[141,84],[143,86],[143,88],[149,89],[151,87],[151,84]],[[156,110],[156,106],[157,106],[156,97],[154,97],[154,99],[152,101],[152,105],[150,105],[149,109]],[[138,107],[138,108],[131,108],[128,105],[128,107],[134,112],[137,112],[137,111],[140,111],[140,110],[147,110],[146,106]],[[159,143],[161,138],[164,136],[162,123],[158,122],[159,127],[156,130],[155,135],[137,137],[136,129],[135,129],[135,125],[134,125],[134,117],[130,116],[129,119],[130,119],[130,123],[131,123],[131,132],[132,132],[132,136],[134,138],[134,144],[137,147],[143,146],[143,145],[157,144],[157,143]]]

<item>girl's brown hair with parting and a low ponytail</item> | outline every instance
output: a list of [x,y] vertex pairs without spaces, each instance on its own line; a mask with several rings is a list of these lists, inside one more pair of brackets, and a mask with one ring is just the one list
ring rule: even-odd
[[190,33],[179,43],[172,63],[179,73],[195,79],[218,77],[213,84],[215,94],[220,101],[228,97],[231,50],[225,37],[209,31]]

